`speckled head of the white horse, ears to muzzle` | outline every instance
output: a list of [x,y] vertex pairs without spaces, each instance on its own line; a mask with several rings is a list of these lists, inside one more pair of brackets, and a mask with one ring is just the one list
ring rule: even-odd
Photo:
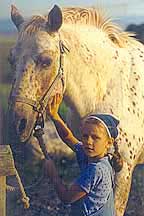
[[45,111],[49,96],[54,91],[62,92],[64,46],[58,33],[62,12],[54,6],[48,17],[34,16],[25,21],[12,6],[11,18],[18,29],[18,39],[9,57],[15,73],[9,108],[16,134],[25,142],[39,113]]

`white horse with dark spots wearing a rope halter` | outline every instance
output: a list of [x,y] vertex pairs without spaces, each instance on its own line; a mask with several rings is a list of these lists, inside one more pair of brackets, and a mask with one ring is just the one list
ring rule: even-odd
[[144,162],[144,46],[95,9],[55,6],[48,16],[25,21],[13,6],[11,17],[19,32],[10,61],[11,109],[20,140],[29,138],[50,85],[63,72],[51,92],[64,90],[75,120],[90,112],[120,119],[124,167],[116,176],[115,206],[122,216],[133,170]]

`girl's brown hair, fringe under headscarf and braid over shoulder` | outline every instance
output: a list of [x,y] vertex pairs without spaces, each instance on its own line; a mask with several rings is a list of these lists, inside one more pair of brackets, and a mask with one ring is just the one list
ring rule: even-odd
[[[82,121],[82,125],[85,123],[91,123],[91,124],[95,124],[95,125],[101,125],[104,127],[104,125],[95,118],[85,118]],[[109,134],[107,133],[107,135],[109,136]],[[118,149],[118,144],[116,141],[116,138],[114,138],[114,142],[113,142],[113,146],[114,146],[114,153],[107,153],[108,158],[109,158],[109,162],[111,164],[111,166],[113,167],[113,169],[115,170],[115,172],[120,172],[122,167],[123,167],[123,159],[119,153],[119,149]]]

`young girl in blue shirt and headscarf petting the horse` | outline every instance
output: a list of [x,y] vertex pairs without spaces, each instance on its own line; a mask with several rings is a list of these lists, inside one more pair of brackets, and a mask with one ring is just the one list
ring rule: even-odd
[[[70,188],[66,188],[53,161],[48,158],[45,162],[47,174],[59,198],[71,203],[70,216],[114,216],[114,169],[120,171],[122,168],[115,141],[119,121],[110,114],[87,116],[82,121],[80,142],[59,116],[60,102],[59,94],[53,97],[48,105],[49,115],[62,140],[76,153],[81,172]],[[115,154],[110,159],[108,149],[112,145]]]

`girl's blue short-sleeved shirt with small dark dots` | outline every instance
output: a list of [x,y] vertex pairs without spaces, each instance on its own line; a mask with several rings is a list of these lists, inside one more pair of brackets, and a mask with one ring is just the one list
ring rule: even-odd
[[[88,163],[82,143],[75,145],[75,152],[81,170],[75,183],[87,193],[78,203],[84,215],[93,215],[105,206],[110,194],[113,196],[114,172],[107,156],[97,162]],[[111,202],[110,205],[114,207],[114,200],[111,199]],[[113,216],[114,214],[106,215]]]

